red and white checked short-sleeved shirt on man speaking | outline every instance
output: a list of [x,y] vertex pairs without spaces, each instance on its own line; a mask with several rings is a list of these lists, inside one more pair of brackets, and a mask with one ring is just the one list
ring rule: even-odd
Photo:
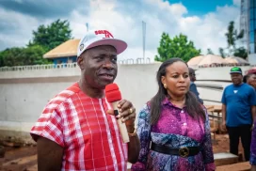
[[105,99],[88,97],[77,83],[44,108],[31,130],[64,148],[63,171],[126,170],[127,144],[122,143],[116,118],[107,115]]

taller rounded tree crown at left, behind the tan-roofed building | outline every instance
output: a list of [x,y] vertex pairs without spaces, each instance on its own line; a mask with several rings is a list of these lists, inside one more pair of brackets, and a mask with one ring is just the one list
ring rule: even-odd
[[48,52],[68,39],[72,39],[70,23],[58,19],[50,25],[40,25],[37,31],[33,31],[28,46],[40,45]]

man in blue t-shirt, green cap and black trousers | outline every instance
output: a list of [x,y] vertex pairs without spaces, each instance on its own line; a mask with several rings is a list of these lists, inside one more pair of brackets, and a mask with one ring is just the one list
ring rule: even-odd
[[238,155],[241,137],[246,161],[249,160],[251,127],[255,115],[256,94],[252,86],[243,83],[243,73],[238,67],[231,69],[232,85],[225,87],[222,95],[222,129],[228,131],[230,152]]

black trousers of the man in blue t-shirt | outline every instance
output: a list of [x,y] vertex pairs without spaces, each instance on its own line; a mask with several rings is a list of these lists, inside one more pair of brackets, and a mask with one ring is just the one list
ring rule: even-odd
[[246,161],[249,161],[250,141],[251,141],[251,125],[243,125],[239,127],[227,127],[230,136],[230,152],[238,155],[239,137],[241,137],[242,146]]

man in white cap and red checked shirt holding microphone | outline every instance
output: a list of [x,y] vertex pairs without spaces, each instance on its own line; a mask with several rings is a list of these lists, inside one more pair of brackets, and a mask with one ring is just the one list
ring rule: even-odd
[[130,101],[119,102],[119,117],[130,135],[130,142],[125,144],[116,117],[108,115],[113,110],[104,98],[105,85],[117,76],[117,55],[126,47],[106,30],[88,32],[80,40],[80,80],[49,101],[31,130],[38,144],[39,171],[119,171],[127,169],[127,161],[136,163],[136,109]]

